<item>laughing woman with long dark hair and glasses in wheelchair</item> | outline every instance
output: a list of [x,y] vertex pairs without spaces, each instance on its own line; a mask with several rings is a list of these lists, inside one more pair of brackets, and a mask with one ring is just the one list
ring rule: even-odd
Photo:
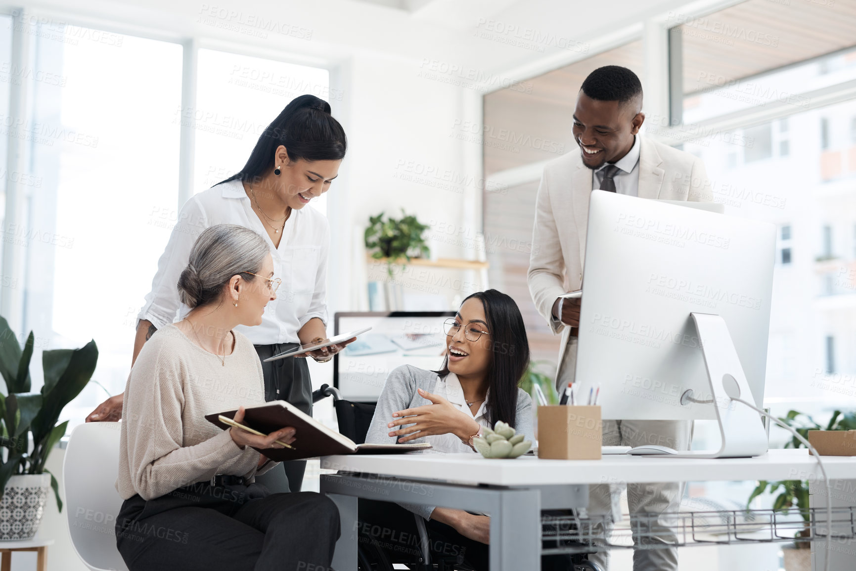
[[[497,420],[534,442],[532,399],[517,386],[529,342],[514,300],[496,289],[472,294],[445,333],[440,371],[400,366],[389,373],[366,442],[427,442],[432,453],[475,454],[473,437]],[[418,554],[416,521],[406,510],[426,520],[432,558],[488,568],[490,517],[462,509],[360,501],[360,543]]]

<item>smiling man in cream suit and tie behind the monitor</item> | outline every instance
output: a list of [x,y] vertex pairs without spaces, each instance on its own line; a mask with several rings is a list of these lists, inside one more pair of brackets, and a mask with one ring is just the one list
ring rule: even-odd
[[[563,390],[574,380],[581,300],[561,300],[559,296],[580,289],[582,283],[591,191],[601,189],[642,199],[712,200],[701,160],[641,136],[643,122],[639,77],[619,66],[597,68],[583,82],[574,110],[574,140],[580,150],[544,167],[528,283],[532,300],[550,330],[562,333],[556,390]],[[687,421],[604,420],[603,445],[654,443],[688,449],[691,431]],[[669,516],[664,513],[678,511],[682,491],[680,484],[627,485],[631,514],[644,516],[641,529],[645,533],[637,537],[637,528],[633,528],[635,544],[675,542]],[[607,520],[620,518],[619,494],[617,485],[591,486],[589,513],[607,514]],[[589,558],[604,569],[609,566],[608,551]],[[677,568],[675,548],[633,553],[634,571]]]

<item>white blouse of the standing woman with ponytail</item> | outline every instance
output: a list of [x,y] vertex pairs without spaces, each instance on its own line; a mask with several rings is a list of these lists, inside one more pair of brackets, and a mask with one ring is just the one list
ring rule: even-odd
[[152,291],[146,295],[146,304],[137,318],[148,319],[160,329],[190,311],[178,298],[178,277],[187,267],[199,234],[209,226],[227,223],[253,229],[265,239],[273,257],[274,277],[282,279],[276,300],[265,306],[262,323],[254,327],[239,325],[236,330],[254,345],[270,345],[300,342],[297,331],[312,318],[320,318],[326,324],[330,250],[327,218],[309,205],[293,210],[282,229],[279,247],[274,247],[241,181],[224,182],[187,200],[158,260]]

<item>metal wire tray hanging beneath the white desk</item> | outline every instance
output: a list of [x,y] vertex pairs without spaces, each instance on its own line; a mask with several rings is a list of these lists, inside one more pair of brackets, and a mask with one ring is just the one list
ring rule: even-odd
[[[805,520],[804,516],[808,517]],[[625,515],[607,537],[607,515],[544,514],[541,518],[542,553],[591,553],[610,549],[663,549],[693,545],[805,542],[826,538],[826,509],[738,509]],[[623,525],[622,525],[623,524]],[[667,526],[674,533],[662,541]],[[633,531],[640,545],[633,544]],[[651,530],[651,531],[649,531]],[[832,537],[856,538],[856,508],[832,509]],[[802,533],[795,538],[797,533]],[[658,536],[655,540],[654,538]]]

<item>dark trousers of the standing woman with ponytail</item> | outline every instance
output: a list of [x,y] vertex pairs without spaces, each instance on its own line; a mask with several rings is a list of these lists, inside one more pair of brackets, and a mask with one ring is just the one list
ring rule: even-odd
[[[296,347],[297,343],[255,346],[265,373],[265,401],[288,401],[312,416],[312,379],[309,378],[306,359],[288,357],[265,363],[268,357]],[[300,491],[305,472],[305,460],[292,460],[282,462],[282,468],[274,467],[257,480],[270,491]]]

